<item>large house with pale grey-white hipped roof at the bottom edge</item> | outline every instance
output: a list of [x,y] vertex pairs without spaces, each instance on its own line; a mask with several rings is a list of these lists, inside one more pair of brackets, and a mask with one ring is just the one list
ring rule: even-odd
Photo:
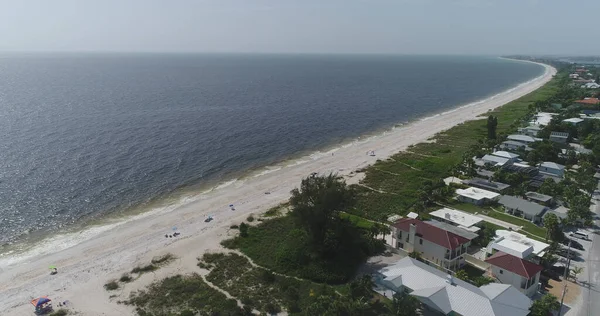
[[425,315],[526,316],[531,306],[531,300],[511,285],[476,287],[410,257],[379,270],[374,283],[375,290],[388,297],[407,291],[423,303]]

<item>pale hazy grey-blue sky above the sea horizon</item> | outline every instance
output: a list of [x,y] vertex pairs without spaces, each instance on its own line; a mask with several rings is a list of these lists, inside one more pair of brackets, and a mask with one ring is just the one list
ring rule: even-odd
[[600,54],[600,0],[0,0],[0,51]]

